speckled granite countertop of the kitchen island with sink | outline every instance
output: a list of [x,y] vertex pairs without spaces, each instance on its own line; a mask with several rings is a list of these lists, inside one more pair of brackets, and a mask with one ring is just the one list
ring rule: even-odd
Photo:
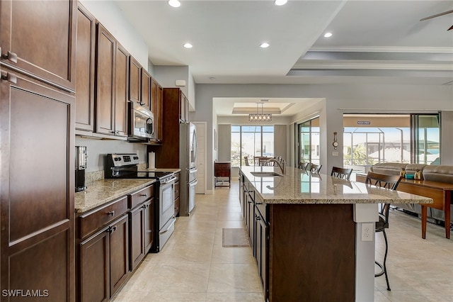
[[264,203],[432,203],[431,198],[369,186],[287,167],[285,175],[258,177],[252,172],[276,172],[279,167],[241,167]]

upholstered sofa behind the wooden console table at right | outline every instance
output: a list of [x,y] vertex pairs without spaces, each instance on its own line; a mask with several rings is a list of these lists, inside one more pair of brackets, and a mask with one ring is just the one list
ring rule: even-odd
[[[374,164],[370,171],[380,174],[398,175],[403,168],[406,170],[407,174],[414,174],[415,171],[419,169],[422,171],[423,179],[427,181],[438,181],[453,184],[453,166],[385,162],[381,164]],[[394,204],[394,206],[412,213],[421,214],[421,206],[418,204]],[[440,211],[435,208],[428,208],[428,220],[431,220],[433,223],[437,223],[439,220],[445,221],[444,211]],[[450,221],[453,221],[453,211],[451,213]]]

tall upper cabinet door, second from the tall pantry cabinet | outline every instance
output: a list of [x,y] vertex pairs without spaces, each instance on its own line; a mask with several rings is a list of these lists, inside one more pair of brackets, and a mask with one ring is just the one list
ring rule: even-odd
[[113,135],[115,38],[100,23],[96,35],[96,132]]

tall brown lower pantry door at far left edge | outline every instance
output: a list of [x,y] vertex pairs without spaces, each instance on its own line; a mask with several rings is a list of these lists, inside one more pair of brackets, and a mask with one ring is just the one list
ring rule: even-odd
[[74,301],[74,95],[2,66],[0,133],[1,290]]

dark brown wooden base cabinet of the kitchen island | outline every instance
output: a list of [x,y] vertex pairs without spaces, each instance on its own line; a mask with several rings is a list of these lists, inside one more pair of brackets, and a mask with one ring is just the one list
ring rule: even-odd
[[243,194],[265,301],[355,300],[352,204],[265,204],[247,179]]

